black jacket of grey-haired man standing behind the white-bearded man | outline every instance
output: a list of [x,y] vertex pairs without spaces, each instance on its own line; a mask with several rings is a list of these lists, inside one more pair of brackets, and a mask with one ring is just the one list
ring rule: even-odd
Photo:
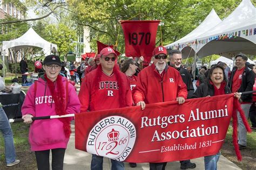
[[183,67],[180,67],[177,70],[179,71],[183,82],[187,86],[187,98],[191,98],[192,95],[194,94],[194,87],[190,77],[190,73],[188,73],[188,71]]

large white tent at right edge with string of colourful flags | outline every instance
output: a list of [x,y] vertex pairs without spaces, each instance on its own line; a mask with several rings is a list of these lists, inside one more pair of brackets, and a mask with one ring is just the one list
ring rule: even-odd
[[232,58],[240,52],[256,55],[256,8],[250,0],[243,0],[230,16],[197,41],[199,57],[219,54]]

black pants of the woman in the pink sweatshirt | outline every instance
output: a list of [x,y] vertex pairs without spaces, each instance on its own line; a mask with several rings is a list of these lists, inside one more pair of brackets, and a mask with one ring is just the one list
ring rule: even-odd
[[[52,162],[51,167],[52,170],[62,170],[63,169],[63,161],[65,155],[65,148],[56,148],[51,150],[52,153]],[[45,151],[35,151],[36,154],[36,163],[38,170],[50,170],[50,150]]]

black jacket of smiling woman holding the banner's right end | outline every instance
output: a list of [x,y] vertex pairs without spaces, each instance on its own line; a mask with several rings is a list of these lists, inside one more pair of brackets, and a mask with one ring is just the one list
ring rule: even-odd
[[[231,90],[228,86],[225,86],[224,88],[225,94],[230,94]],[[206,97],[206,96],[214,96],[214,87],[210,82],[201,83],[197,90],[194,92],[192,98],[198,98],[198,97]]]

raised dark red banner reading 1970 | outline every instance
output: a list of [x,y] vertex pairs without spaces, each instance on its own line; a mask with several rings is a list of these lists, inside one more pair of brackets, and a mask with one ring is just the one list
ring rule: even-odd
[[125,55],[144,56],[150,62],[156,47],[157,27],[160,20],[128,20],[121,22],[125,39]]

